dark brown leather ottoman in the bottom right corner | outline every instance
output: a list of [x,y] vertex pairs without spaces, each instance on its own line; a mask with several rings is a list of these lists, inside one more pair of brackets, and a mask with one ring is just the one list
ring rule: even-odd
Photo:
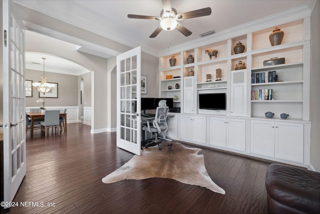
[[266,169],[270,213],[320,213],[320,173],[282,164]]

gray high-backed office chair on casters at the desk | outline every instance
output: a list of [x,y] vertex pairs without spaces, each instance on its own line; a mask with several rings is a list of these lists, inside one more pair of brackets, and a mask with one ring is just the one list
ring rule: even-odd
[[168,125],[166,123],[168,111],[169,108],[166,106],[166,100],[160,100],[158,107],[156,107],[155,118],[152,121],[152,126],[150,127],[150,125],[148,124],[147,126],[142,127],[142,129],[145,131],[155,133],[155,139],[145,144],[145,148],[154,143],[159,146],[159,150],[161,150],[160,143],[166,143],[167,146],[171,145],[171,143],[158,138],[158,133],[163,133],[168,130]]

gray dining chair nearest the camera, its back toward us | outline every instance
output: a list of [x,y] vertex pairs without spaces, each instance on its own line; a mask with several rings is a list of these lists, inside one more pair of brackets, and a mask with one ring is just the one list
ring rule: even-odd
[[46,110],[44,113],[44,121],[41,121],[41,133],[44,131],[44,136],[47,135],[49,127],[56,129],[60,127],[60,110]]

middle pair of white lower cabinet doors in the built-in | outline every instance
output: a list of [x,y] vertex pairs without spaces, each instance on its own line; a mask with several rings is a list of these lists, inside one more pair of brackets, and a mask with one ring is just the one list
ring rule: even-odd
[[245,120],[210,118],[209,144],[245,151]]

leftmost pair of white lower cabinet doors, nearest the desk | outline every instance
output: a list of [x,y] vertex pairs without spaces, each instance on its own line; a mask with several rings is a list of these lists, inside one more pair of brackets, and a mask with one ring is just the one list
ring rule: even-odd
[[197,143],[206,142],[206,117],[180,115],[179,128],[180,139]]

